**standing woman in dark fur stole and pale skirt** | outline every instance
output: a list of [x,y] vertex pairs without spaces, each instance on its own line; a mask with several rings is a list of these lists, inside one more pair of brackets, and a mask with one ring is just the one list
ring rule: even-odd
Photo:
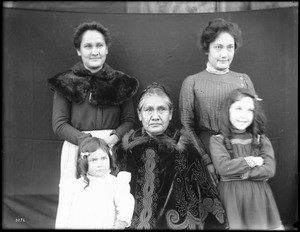
[[133,128],[132,97],[137,79],[105,63],[111,44],[110,32],[98,22],[80,24],[73,35],[80,62],[48,79],[54,91],[52,127],[65,140],[61,153],[59,203],[55,228],[64,211],[64,183],[76,179],[77,154],[90,141],[102,138],[109,147]]

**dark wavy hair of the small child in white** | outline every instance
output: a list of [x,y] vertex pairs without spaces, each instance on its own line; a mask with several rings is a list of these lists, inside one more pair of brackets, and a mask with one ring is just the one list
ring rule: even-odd
[[[108,154],[108,157],[109,157],[109,166],[110,166],[110,170],[111,171],[114,171],[115,169],[115,165],[113,163],[113,159],[111,157],[111,153],[110,153],[110,149],[109,149],[109,146],[107,145],[107,143],[102,140],[102,139],[98,139],[97,140],[97,147],[95,147],[95,149],[93,150],[90,150],[89,153],[91,152],[94,152],[98,149],[101,149],[103,150],[105,153]],[[89,178],[87,177],[87,173],[88,173],[88,170],[89,170],[89,161],[88,161],[88,155],[84,155],[82,156],[80,154],[80,152],[78,151],[78,159],[77,159],[77,173],[76,173],[76,177],[77,179],[80,178],[80,177],[83,177],[83,181],[87,184],[84,189],[86,189],[89,184],[90,184],[90,180]]]

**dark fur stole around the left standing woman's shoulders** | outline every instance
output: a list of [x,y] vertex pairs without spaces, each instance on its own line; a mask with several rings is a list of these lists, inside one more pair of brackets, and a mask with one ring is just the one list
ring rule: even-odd
[[96,106],[120,105],[133,97],[139,87],[137,79],[112,69],[106,63],[99,72],[91,73],[82,62],[49,78],[48,84],[52,90],[75,103],[84,102],[89,93],[89,102]]

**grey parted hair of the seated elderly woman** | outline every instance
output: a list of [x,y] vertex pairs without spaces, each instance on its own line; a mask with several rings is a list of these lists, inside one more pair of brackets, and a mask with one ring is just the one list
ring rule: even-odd
[[169,110],[171,112],[173,111],[173,102],[171,100],[169,93],[167,92],[167,90],[165,89],[165,87],[163,85],[161,85],[157,82],[151,83],[143,90],[143,92],[140,96],[137,110],[140,111],[142,109],[143,101],[146,96],[154,96],[154,95],[161,96],[161,97],[167,97],[169,100],[169,102],[168,102]]

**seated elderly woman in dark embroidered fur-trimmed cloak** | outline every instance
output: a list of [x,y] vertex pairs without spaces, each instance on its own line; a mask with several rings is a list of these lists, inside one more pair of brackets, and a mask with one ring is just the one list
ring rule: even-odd
[[169,126],[172,101],[149,85],[140,98],[143,127],[114,147],[119,171],[131,172],[133,229],[225,229],[227,219],[209,173],[189,137]]

